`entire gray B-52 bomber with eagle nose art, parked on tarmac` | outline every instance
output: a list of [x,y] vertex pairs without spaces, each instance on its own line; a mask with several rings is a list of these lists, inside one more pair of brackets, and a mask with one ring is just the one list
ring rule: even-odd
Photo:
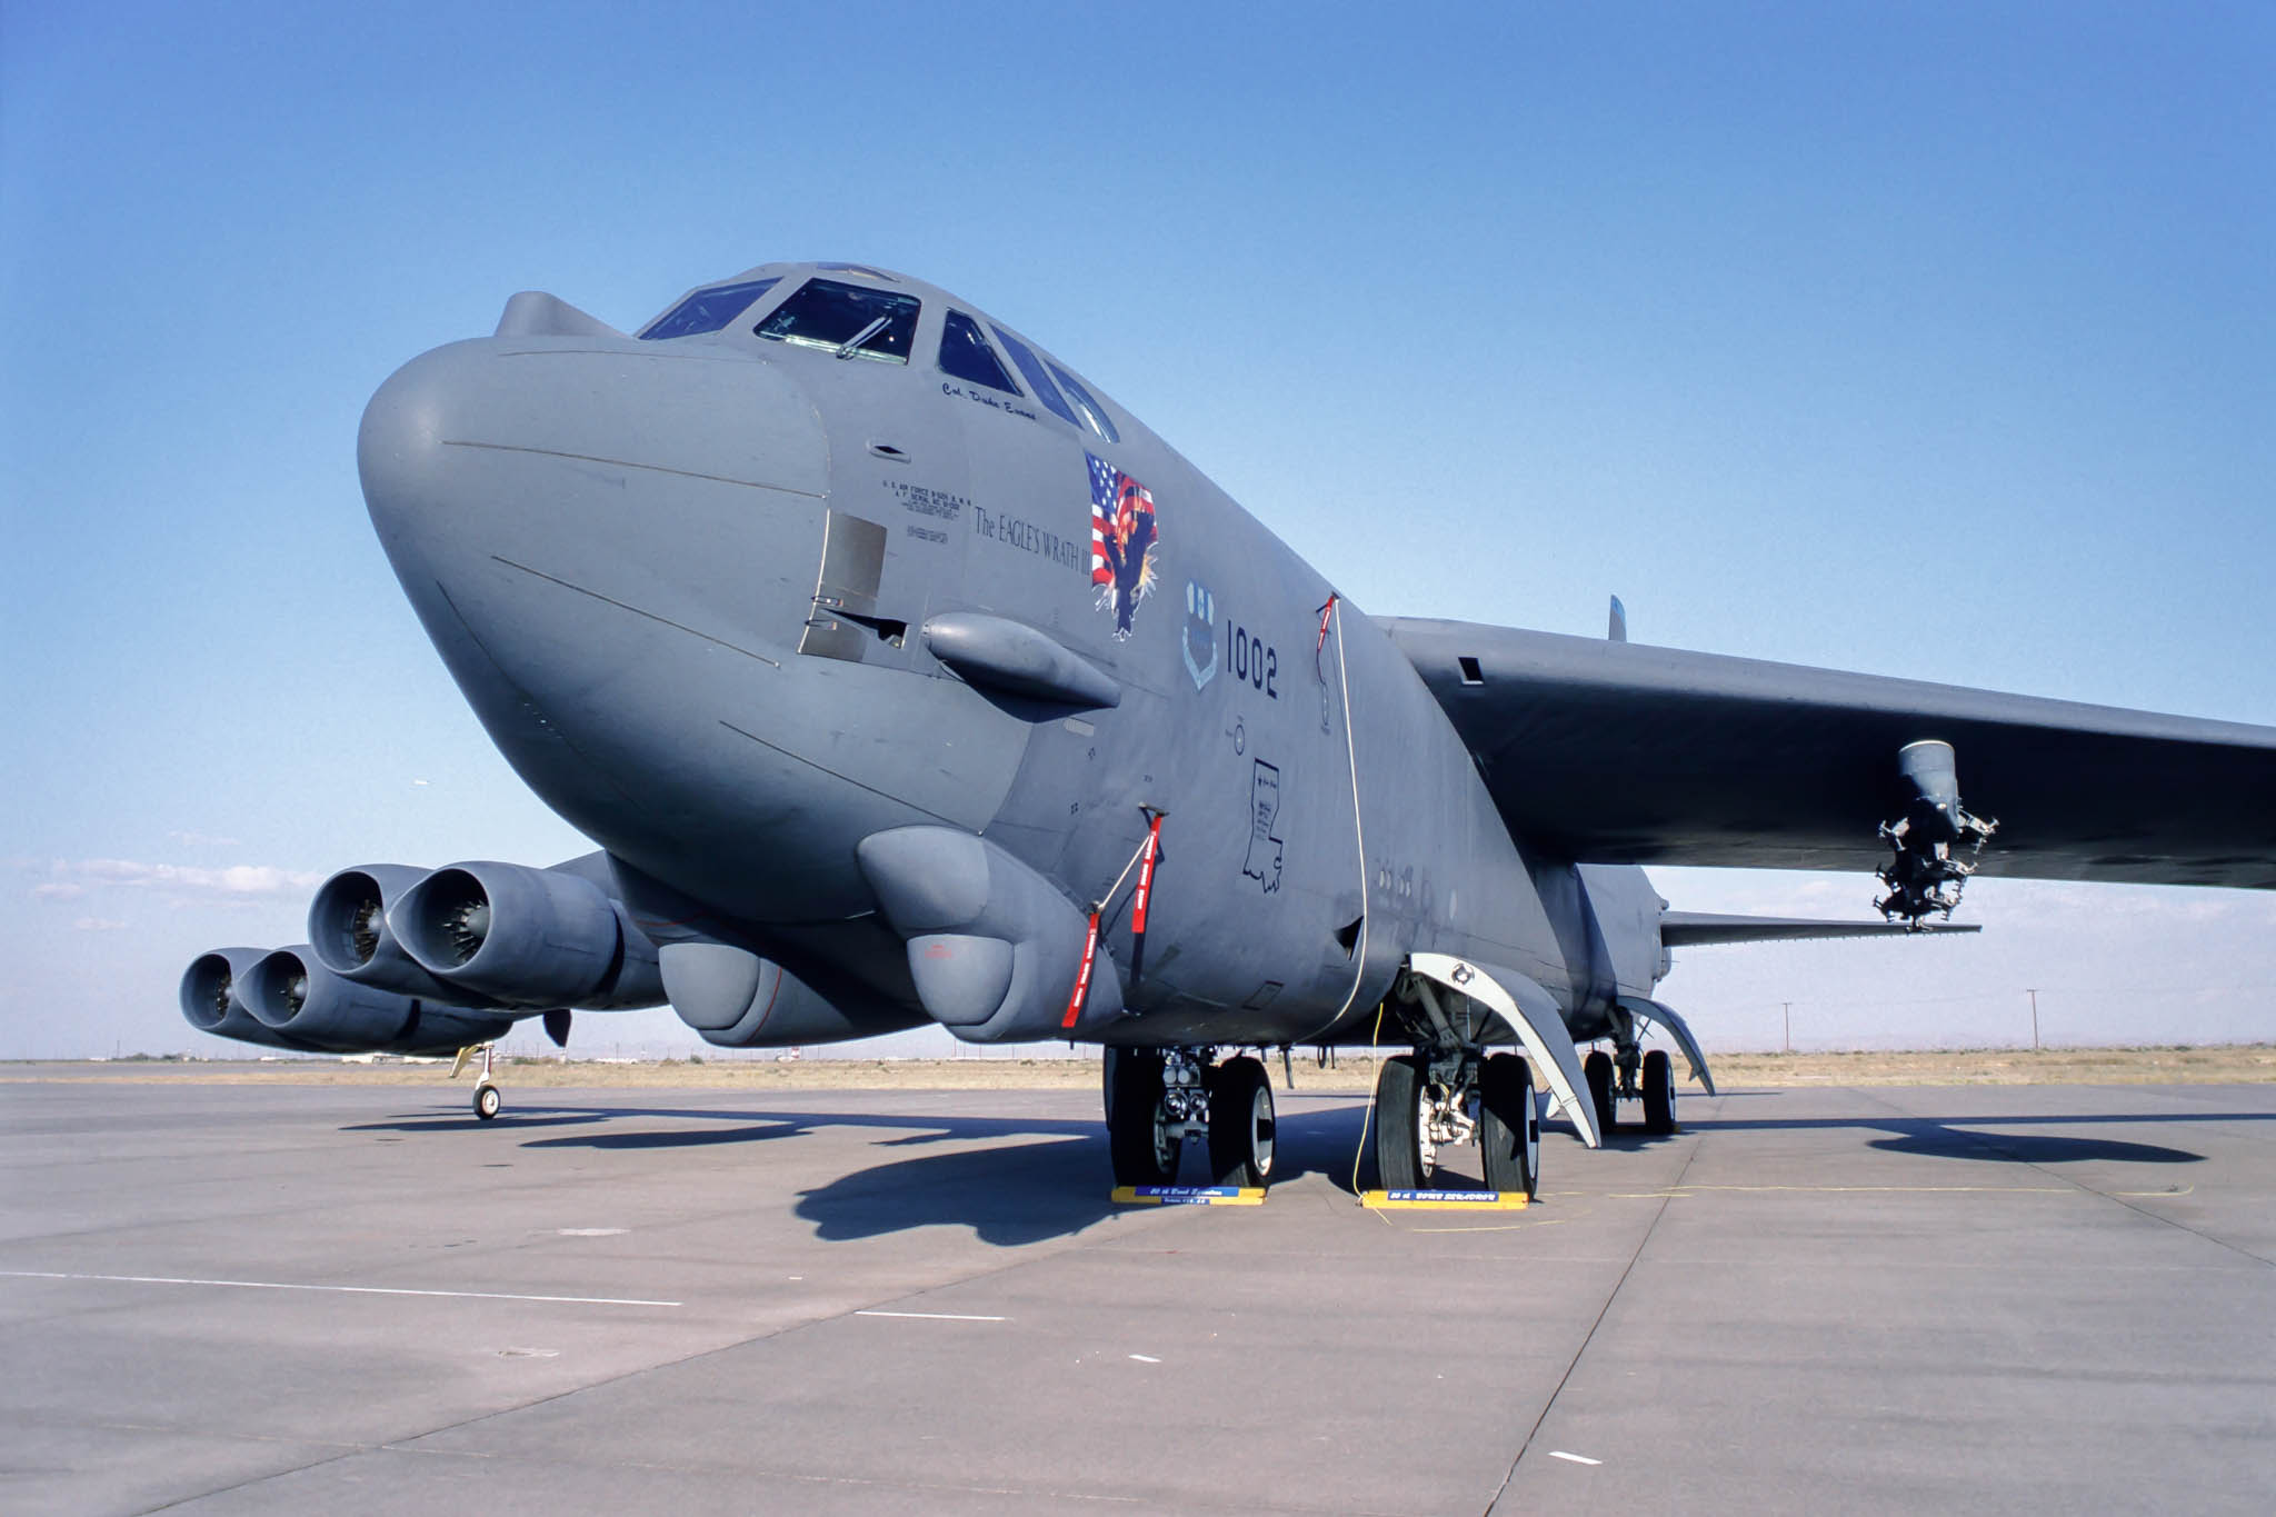
[[[203,1030],[451,1051],[658,1005],[728,1048],[1104,1048],[1113,1171],[1272,1174],[1256,1053],[1391,1044],[1372,1155],[1539,1180],[1675,1128],[1671,951],[1948,926],[1976,871],[2276,889],[2276,728],[1375,619],[967,300],[767,264],[637,334],[519,293],[371,398],[364,500],[505,760],[599,851],[335,873]],[[1966,776],[1966,803],[1960,776]],[[1878,867],[1880,921],[1643,864]],[[1600,1044],[1582,1058],[1582,1044]],[[1256,1053],[1243,1053],[1256,1051]],[[496,1114],[487,1078],[476,1094]]]

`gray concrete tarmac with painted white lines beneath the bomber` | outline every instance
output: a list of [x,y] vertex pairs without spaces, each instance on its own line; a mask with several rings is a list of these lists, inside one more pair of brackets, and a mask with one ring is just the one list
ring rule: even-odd
[[1238,1210],[1086,1094],[467,1096],[0,1085],[0,1510],[2276,1503],[2269,1085],[1689,1094],[1493,1217],[1350,1096]]

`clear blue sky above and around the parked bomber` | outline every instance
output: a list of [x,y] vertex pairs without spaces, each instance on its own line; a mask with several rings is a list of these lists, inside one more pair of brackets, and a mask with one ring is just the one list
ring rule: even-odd
[[[2262,5],[14,2],[0,1055],[207,1046],[180,967],[335,867],[580,851],[355,487],[371,389],[517,289],[906,268],[1375,612],[1618,591],[1639,641],[2276,723],[2271,161]],[[2276,1035],[2267,896],[1966,914],[1666,998],[1725,1046],[1780,1001],[1985,1042],[2026,985],[2071,1042]]]

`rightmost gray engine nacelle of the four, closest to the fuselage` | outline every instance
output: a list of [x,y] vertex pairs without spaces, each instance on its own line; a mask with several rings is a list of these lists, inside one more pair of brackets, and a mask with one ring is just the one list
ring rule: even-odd
[[498,1005],[655,1005],[655,944],[580,873],[487,860],[421,878],[387,907],[394,939],[430,976]]

